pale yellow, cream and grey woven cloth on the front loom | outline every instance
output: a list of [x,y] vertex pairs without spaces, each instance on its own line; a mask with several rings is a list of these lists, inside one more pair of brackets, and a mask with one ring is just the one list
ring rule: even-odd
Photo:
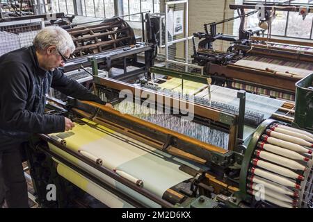
[[[103,166],[108,169],[118,169],[143,180],[144,188],[158,196],[172,186],[191,178],[190,175],[179,170],[180,164],[170,162],[162,155],[154,153],[155,148],[131,139],[120,133],[113,132],[104,126],[98,126],[92,121],[84,119],[92,125],[77,124],[71,130],[68,137],[65,134],[55,133],[56,136],[63,136],[67,142],[67,148],[72,151],[86,151],[91,155],[99,157],[103,161]],[[106,130],[105,132],[101,129]],[[64,138],[65,137],[65,138]],[[104,176],[103,173],[88,167],[87,164],[61,151],[61,149],[49,144],[51,151],[58,153],[70,160],[79,167],[87,169],[90,173],[97,175],[103,180],[117,185],[115,180]],[[123,188],[125,189],[125,188]]]

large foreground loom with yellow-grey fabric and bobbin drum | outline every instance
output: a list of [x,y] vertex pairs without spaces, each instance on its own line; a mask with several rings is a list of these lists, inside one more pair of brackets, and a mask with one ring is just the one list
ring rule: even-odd
[[294,117],[280,119],[278,99],[167,71],[174,78],[140,85],[94,75],[114,109],[49,100],[49,114],[76,126],[29,143],[41,205],[88,193],[109,207],[312,207],[312,74],[296,83]]

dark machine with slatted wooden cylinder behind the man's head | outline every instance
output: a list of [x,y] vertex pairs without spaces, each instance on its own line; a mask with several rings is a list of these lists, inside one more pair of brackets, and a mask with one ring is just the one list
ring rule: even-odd
[[[63,71],[70,71],[75,79],[90,77],[95,73],[84,68],[91,67],[97,60],[99,69],[110,78],[125,80],[149,74],[149,67],[154,65],[157,56],[157,40],[149,13],[145,14],[142,26],[143,42],[136,41],[133,28],[121,17],[105,19],[101,24],[68,28],[76,49]],[[140,54],[144,57],[142,60],[138,58]]]

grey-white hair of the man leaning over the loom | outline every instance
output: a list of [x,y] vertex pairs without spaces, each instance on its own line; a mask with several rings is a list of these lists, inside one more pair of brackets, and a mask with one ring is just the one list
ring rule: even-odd
[[47,49],[49,46],[56,46],[56,49],[63,55],[67,51],[73,53],[75,50],[75,45],[70,34],[58,26],[42,28],[35,36],[33,45],[36,49]]

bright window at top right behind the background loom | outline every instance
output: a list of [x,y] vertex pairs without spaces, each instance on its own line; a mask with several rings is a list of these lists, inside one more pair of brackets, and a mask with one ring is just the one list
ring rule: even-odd
[[[245,0],[243,3],[285,3],[289,4],[286,0]],[[290,4],[298,6],[313,6],[312,0],[295,0]],[[247,10],[248,12],[248,10]],[[272,35],[283,37],[296,37],[301,39],[312,40],[312,21],[313,14],[309,13],[303,19],[298,15],[298,12],[284,12],[276,11],[276,17],[272,22]],[[257,26],[257,18],[253,15],[247,18],[246,28]]]

